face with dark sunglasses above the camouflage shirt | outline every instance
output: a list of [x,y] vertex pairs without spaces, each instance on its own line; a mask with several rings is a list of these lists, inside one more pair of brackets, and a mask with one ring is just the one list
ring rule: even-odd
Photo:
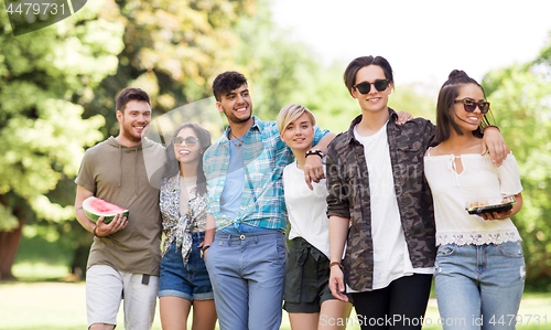
[[[385,72],[378,65],[364,66],[356,73],[356,82],[354,85],[359,83],[368,82],[374,83],[377,79],[386,79]],[[379,113],[388,110],[388,96],[392,92],[392,83],[390,83],[387,88],[382,92],[377,91],[375,86],[370,85],[371,89],[368,94],[359,93],[358,88],[352,88],[352,96],[356,98],[361,107],[363,111],[367,113]]]

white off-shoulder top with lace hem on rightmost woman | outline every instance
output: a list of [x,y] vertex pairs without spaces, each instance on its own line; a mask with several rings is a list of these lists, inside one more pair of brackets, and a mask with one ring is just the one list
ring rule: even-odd
[[[463,164],[461,173],[456,172],[455,158]],[[437,246],[521,241],[510,219],[485,221],[465,210],[472,202],[500,199],[522,191],[512,153],[499,168],[491,162],[489,155],[425,156],[424,174],[434,201]]]

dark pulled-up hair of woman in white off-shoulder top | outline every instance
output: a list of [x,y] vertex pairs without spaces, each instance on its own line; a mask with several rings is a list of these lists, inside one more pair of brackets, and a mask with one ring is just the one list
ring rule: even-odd
[[[469,77],[464,71],[454,70],[450,73],[447,81],[442,85],[439,92],[439,99],[436,102],[436,131],[433,140],[433,145],[441,143],[450,138],[451,128],[455,129],[458,135],[463,135],[458,125],[455,123],[451,115],[451,109],[454,106],[455,98],[460,95],[460,88],[462,86],[475,84],[480,87],[484,99],[486,99],[486,93],[480,84],[475,79]],[[491,116],[491,113],[489,113]],[[476,130],[473,130],[475,137],[483,137],[484,128],[489,125],[489,120],[484,115],[480,125]]]

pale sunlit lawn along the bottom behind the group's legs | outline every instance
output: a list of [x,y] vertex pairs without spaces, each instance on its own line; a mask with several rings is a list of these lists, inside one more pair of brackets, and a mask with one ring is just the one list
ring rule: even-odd
[[[522,326],[517,329],[551,329],[551,294],[525,294],[519,315],[522,317]],[[528,321],[530,316],[531,319]],[[536,326],[537,317],[540,319],[540,326]],[[425,326],[423,329],[442,329],[442,327],[434,326],[439,319],[434,299],[430,301],[425,319],[430,319],[433,326]],[[118,322],[117,329],[123,329],[122,311],[119,312]],[[82,330],[86,329],[86,326],[84,283],[0,284],[0,329],[2,330]],[[161,329],[159,310],[153,329]],[[289,318],[284,312],[281,329],[291,329]],[[350,326],[347,329],[356,330],[359,327]]]

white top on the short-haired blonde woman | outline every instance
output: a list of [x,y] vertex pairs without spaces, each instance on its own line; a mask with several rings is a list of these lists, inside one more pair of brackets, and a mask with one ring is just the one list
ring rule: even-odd
[[[325,168],[324,168],[325,171]],[[325,179],[312,182],[310,190],[304,170],[296,161],[283,169],[283,192],[291,231],[289,239],[302,237],[329,258],[329,219],[327,217],[327,188]]]

